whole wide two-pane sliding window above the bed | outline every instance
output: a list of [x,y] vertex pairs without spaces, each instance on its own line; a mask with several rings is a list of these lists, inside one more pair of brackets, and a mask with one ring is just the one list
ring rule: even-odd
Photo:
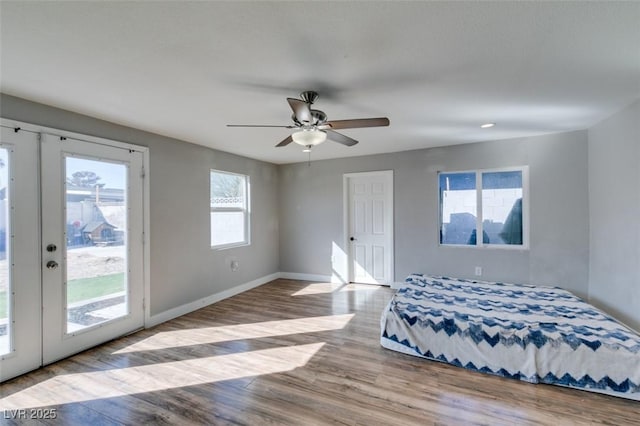
[[440,244],[526,248],[527,170],[439,173]]

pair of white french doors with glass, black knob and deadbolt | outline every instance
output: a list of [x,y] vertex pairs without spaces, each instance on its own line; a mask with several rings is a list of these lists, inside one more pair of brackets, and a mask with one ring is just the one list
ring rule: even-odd
[[4,381],[144,325],[145,197],[136,147],[1,131]]

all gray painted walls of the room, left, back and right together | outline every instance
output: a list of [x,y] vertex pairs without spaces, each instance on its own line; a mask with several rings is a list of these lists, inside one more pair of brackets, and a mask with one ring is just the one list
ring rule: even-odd
[[[473,277],[479,265],[482,278],[588,295],[640,328],[639,102],[588,132],[280,167],[7,95],[0,115],[151,148],[152,315],[278,271],[331,275],[334,243],[344,250],[342,175],[391,169],[396,280]],[[440,247],[437,172],[517,165],[529,165],[530,249]],[[248,247],[209,248],[210,168],[251,176]]]

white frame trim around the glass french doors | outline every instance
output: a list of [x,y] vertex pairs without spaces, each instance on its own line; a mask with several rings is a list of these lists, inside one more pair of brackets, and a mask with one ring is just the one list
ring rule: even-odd
[[[143,295],[143,305],[144,305],[144,327],[147,324],[150,324],[151,319],[151,248],[149,244],[149,236],[151,235],[150,229],[150,202],[151,199],[149,197],[149,148],[142,145],[136,145],[134,143],[129,142],[121,142],[113,139],[101,138],[98,136],[90,136],[83,133],[76,133],[67,130],[61,130],[53,127],[41,126],[33,123],[26,123],[18,120],[11,120],[7,118],[0,117],[0,125],[6,127],[16,128],[19,127],[21,130],[26,130],[34,133],[47,133],[52,136],[61,136],[70,139],[76,139],[85,142],[91,142],[101,145],[108,145],[112,147],[118,147],[123,149],[130,149],[137,152],[142,153],[142,167],[144,170],[144,178],[142,179],[142,192],[143,192],[143,206],[142,206],[142,220],[143,220],[143,261],[144,265],[142,266],[143,273],[143,281],[142,285],[144,287],[144,295]],[[38,147],[38,152],[40,147]],[[40,159],[38,159],[38,164],[40,165]],[[38,194],[38,203],[41,204],[42,194]],[[42,236],[40,237],[42,238]],[[42,241],[40,241],[42,245]],[[42,262],[41,262],[42,263]]]

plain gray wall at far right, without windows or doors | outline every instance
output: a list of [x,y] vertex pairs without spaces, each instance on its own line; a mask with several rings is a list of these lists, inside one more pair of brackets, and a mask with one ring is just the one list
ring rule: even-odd
[[592,304],[640,330],[640,100],[589,129]]

